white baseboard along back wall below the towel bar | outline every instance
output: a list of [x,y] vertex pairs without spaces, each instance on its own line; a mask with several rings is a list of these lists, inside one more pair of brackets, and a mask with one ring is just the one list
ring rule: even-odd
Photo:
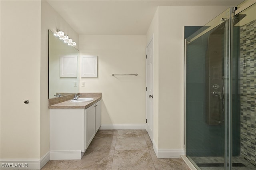
[[146,124],[116,124],[101,125],[100,130],[126,130],[126,129],[146,129]]

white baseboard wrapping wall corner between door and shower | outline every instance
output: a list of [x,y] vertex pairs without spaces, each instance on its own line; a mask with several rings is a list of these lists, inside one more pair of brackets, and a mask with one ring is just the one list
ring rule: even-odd
[[154,140],[152,143],[157,158],[181,158],[185,154],[184,149],[158,149]]

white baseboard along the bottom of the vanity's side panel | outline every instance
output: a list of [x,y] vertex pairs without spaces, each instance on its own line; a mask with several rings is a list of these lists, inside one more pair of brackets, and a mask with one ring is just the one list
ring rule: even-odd
[[50,160],[80,160],[81,150],[50,150]]

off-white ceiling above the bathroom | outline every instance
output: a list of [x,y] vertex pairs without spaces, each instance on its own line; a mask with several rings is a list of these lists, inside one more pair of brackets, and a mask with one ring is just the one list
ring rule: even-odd
[[79,35],[146,35],[157,6],[236,6],[241,1],[47,0],[47,2]]

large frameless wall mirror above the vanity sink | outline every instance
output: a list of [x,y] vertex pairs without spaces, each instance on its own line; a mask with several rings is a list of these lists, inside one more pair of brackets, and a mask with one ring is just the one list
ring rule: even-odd
[[49,99],[79,92],[79,51],[49,30]]

